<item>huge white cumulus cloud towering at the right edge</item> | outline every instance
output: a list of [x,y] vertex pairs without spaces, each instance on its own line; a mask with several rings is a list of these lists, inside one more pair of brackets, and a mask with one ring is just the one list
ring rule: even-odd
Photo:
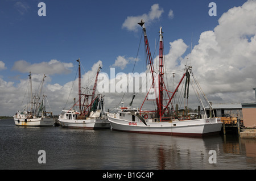
[[[191,54],[181,40],[170,43],[166,61],[172,69],[183,69],[187,62],[205,94],[223,102],[252,102],[256,87],[256,1],[247,1],[228,10],[213,31],[201,33]],[[179,46],[177,46],[179,44]],[[250,95],[250,96],[248,96]]]

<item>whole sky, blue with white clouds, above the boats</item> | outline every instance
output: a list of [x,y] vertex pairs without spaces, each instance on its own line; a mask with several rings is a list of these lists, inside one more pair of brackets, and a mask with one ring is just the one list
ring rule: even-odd
[[[39,2],[46,4],[46,16],[38,15]],[[210,2],[216,3],[216,16],[209,15]],[[22,109],[30,71],[34,92],[46,74],[44,91],[55,115],[76,97],[78,58],[82,87],[93,87],[99,65],[101,75],[109,79],[113,68],[117,78],[145,72],[143,41],[139,48],[142,28],[137,24],[141,19],[155,65],[163,27],[165,68],[170,74],[189,64],[211,102],[255,102],[255,9],[256,1],[243,0],[2,0],[0,115],[12,116]],[[105,93],[110,109],[121,100],[129,103],[132,95]],[[142,101],[138,96],[133,106]]]

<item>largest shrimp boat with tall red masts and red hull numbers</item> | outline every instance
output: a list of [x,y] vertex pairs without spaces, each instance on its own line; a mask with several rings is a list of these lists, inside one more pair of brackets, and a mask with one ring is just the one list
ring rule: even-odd
[[[191,119],[191,117],[188,117],[188,115],[179,116],[178,110],[174,111],[174,107],[177,104],[173,106],[173,99],[178,92],[181,82],[185,82],[184,98],[187,92],[188,99],[188,86],[190,81],[190,75],[192,74],[192,67],[185,66],[184,73],[180,81],[178,82],[175,91],[168,91],[164,83],[162,27],[160,27],[159,38],[159,71],[158,73],[156,73],[152,62],[150,47],[147,40],[146,28],[144,26],[143,20],[141,20],[141,22],[138,24],[143,27],[148,69],[150,69],[151,74],[151,89],[154,89],[154,91],[158,92],[158,94],[155,94],[154,99],[150,99],[148,98],[148,91],[141,108],[119,107],[115,109],[117,111],[116,113],[108,113],[108,119],[110,121],[111,129],[114,131],[164,134],[170,136],[202,137],[212,134],[218,134],[221,131],[222,122],[219,118],[214,117],[214,112],[212,112],[213,116],[208,117],[207,112],[204,110],[201,111],[203,112],[201,116],[199,115]],[[157,77],[158,80],[156,79]],[[133,102],[133,99],[131,103]],[[154,108],[154,110],[142,110],[143,104],[147,100],[153,100],[155,102],[156,107]]]

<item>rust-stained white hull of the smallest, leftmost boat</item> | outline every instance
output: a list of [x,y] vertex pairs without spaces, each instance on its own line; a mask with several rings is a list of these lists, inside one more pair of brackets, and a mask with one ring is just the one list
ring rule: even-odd
[[52,127],[55,123],[53,117],[38,117],[31,119],[21,119],[14,117],[14,123],[18,126],[27,126],[27,127]]

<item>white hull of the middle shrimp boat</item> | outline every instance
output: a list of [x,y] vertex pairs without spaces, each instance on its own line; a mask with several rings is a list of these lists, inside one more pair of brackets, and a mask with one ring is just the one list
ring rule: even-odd
[[60,124],[63,128],[78,128],[78,129],[109,129],[110,123],[104,119],[78,119],[68,120],[60,119]]

